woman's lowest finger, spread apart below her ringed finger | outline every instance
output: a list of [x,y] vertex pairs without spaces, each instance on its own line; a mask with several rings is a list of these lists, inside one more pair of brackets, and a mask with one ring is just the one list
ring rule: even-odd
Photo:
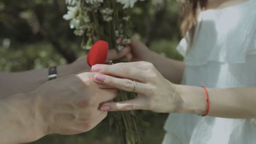
[[143,98],[136,98],[127,101],[120,101],[114,103],[105,103],[101,105],[101,110],[107,111],[130,111],[130,110],[148,110],[146,100]]

